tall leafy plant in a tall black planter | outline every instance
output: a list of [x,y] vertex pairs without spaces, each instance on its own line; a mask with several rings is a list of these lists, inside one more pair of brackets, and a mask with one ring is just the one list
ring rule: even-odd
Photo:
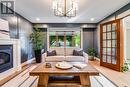
[[34,26],[34,32],[30,34],[30,40],[33,43],[36,63],[41,62],[41,50],[44,47],[43,37],[44,33],[40,31],[39,27]]

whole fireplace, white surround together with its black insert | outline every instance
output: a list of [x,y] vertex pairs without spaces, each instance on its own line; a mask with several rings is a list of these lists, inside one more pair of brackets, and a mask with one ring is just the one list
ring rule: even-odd
[[5,65],[4,69],[1,68],[0,80],[2,80],[21,70],[21,44],[19,39],[0,39],[0,46],[2,46],[0,55],[7,56],[6,60],[3,60],[5,57],[0,58],[0,67]]

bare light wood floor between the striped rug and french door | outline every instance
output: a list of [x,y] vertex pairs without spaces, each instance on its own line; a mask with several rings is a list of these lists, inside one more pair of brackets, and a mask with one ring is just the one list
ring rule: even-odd
[[130,72],[118,72],[100,66],[99,61],[89,61],[100,73],[115,83],[118,87],[130,87]]

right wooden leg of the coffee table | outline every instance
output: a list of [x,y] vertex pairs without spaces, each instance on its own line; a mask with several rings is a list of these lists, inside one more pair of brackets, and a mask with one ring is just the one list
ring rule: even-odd
[[80,75],[80,82],[83,87],[91,87],[89,75]]

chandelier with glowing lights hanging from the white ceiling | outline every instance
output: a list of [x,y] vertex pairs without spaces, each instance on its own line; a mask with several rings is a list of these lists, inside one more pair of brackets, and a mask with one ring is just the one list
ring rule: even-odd
[[54,15],[59,17],[75,17],[78,10],[77,0],[53,0]]

